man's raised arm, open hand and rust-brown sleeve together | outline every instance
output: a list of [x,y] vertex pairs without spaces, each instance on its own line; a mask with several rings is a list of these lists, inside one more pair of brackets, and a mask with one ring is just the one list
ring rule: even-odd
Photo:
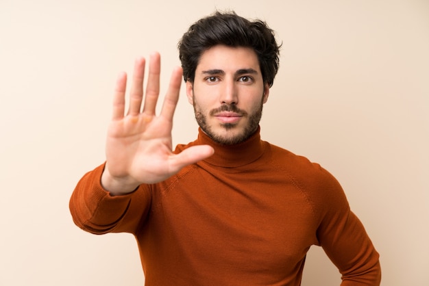
[[[133,232],[150,205],[147,184],[158,183],[213,153],[210,146],[172,152],[171,129],[182,81],[175,68],[158,116],[160,55],[151,55],[143,99],[145,59],[136,60],[125,112],[127,75],[121,73],[114,92],[112,121],[106,140],[106,164],[88,172],[77,184],[70,210],[75,223],[91,233]],[[143,103],[143,108],[142,108]]]

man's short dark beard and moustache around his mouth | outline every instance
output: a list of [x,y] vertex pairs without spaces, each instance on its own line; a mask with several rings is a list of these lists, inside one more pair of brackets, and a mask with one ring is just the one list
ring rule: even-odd
[[[237,134],[234,137],[228,137],[226,135],[216,134],[215,132],[213,132],[210,126],[208,126],[207,124],[206,116],[201,112],[201,110],[197,109],[197,105],[195,104],[195,98],[193,102],[194,102],[195,119],[197,120],[197,123],[201,128],[201,130],[204,131],[204,133],[206,133],[208,137],[210,137],[213,141],[223,145],[232,145],[232,144],[239,144],[241,142],[245,142],[245,140],[247,140],[250,136],[252,136],[255,133],[255,131],[258,129],[260,118],[262,118],[262,105],[263,105],[262,101],[258,109],[252,114],[247,114],[247,112],[241,109],[238,109],[238,107],[236,107],[236,105],[234,104],[232,105],[224,104],[218,109],[211,110],[210,116],[213,114],[216,114],[217,112],[229,111],[229,112],[236,112],[238,114],[241,114],[242,116],[249,117],[249,122],[245,127],[245,129],[243,130],[243,132],[241,132],[240,134]],[[222,127],[225,128],[226,131],[228,131],[230,129],[234,129],[234,127],[236,127],[236,124],[223,123]]]

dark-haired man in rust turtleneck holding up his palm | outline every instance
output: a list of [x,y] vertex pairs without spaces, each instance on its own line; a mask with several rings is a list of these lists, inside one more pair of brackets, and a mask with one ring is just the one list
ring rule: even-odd
[[[132,233],[146,285],[300,285],[306,252],[322,246],[341,285],[379,285],[380,263],[330,173],[260,139],[262,105],[279,45],[262,21],[217,12],[179,44],[198,138],[172,150],[182,69],[160,114],[160,55],[136,61],[114,94],[106,163],[71,196],[75,223],[91,233]],[[143,96],[143,93],[144,96]]]

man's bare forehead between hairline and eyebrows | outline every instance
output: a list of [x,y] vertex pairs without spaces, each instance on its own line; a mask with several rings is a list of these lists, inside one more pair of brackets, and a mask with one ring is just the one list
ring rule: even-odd
[[249,47],[228,47],[217,45],[201,54],[196,73],[202,70],[218,69],[234,73],[236,70],[252,68],[260,73],[258,56],[254,49]]

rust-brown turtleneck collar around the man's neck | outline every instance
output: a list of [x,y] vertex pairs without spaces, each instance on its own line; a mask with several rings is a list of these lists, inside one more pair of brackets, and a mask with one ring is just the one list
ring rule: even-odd
[[204,161],[208,164],[225,168],[247,165],[262,156],[265,150],[265,145],[260,140],[260,127],[245,142],[233,145],[219,144],[199,128],[198,138],[194,144],[208,144],[215,148],[215,154],[204,159]]

